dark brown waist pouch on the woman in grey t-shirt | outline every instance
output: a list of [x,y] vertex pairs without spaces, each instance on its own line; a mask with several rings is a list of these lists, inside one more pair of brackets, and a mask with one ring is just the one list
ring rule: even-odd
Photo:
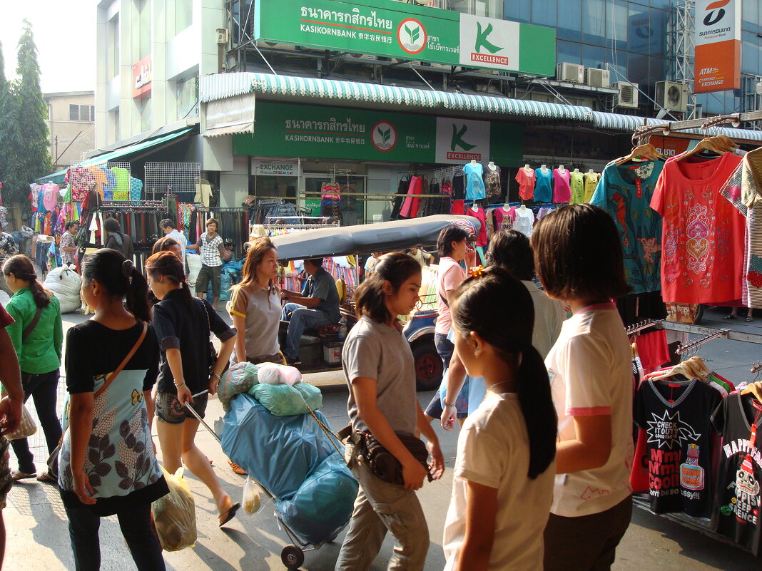
[[[347,426],[348,428],[350,427]],[[339,435],[346,434],[348,432],[347,429],[339,432]],[[418,460],[421,466],[426,469],[428,480],[430,482],[433,481],[434,478],[431,477],[428,467],[428,450],[424,442],[415,436],[402,432],[395,432],[395,435],[405,445],[405,448],[410,451],[413,458]],[[354,430],[351,432],[350,441],[354,444],[354,453],[363,458],[363,461],[370,467],[370,471],[379,480],[393,483],[396,486],[405,485],[405,478],[402,477],[402,464],[395,458],[395,455],[392,455],[391,452],[381,445],[375,436],[369,432]]]

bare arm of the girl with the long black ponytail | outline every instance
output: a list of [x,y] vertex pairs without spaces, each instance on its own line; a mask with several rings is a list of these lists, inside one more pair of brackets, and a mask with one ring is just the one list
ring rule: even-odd
[[495,541],[498,490],[466,480],[466,537],[457,571],[486,571]]

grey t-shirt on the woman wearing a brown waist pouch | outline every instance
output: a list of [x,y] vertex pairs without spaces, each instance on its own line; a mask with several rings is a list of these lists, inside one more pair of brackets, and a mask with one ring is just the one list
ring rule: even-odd
[[418,420],[415,367],[410,344],[401,331],[363,316],[347,335],[341,366],[349,384],[349,419],[355,430],[368,432],[357,415],[352,383],[358,377],[376,379],[376,405],[395,432],[415,435]]

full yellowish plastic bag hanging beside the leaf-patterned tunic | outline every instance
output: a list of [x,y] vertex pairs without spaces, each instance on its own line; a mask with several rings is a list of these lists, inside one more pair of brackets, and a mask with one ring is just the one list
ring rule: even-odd
[[152,503],[158,541],[165,551],[179,551],[196,544],[196,505],[183,468],[170,474],[162,466],[169,493]]

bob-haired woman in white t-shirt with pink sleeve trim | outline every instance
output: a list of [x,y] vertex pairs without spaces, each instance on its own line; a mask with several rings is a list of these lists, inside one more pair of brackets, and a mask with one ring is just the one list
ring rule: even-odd
[[589,204],[532,233],[546,293],[571,307],[545,360],[559,416],[545,571],[604,571],[632,515],[632,349],[612,298],[630,291],[613,219]]

